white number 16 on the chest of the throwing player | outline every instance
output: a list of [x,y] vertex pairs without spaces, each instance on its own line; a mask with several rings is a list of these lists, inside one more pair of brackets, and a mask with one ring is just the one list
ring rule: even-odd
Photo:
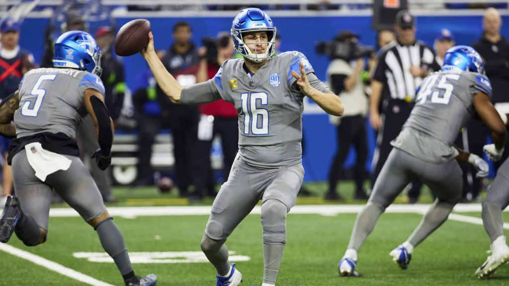
[[245,135],[267,135],[269,134],[269,111],[257,107],[268,104],[268,95],[265,92],[246,92],[240,94],[242,112],[244,113],[244,134]]

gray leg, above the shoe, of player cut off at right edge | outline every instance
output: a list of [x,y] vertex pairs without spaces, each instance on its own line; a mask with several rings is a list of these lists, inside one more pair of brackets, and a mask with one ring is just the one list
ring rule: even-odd
[[483,224],[491,242],[504,235],[502,210],[509,205],[509,159],[498,168],[497,176],[483,202]]

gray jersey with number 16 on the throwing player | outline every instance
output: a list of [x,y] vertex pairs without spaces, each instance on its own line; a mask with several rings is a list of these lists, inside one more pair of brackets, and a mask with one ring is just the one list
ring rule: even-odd
[[271,58],[252,76],[242,67],[244,59],[227,60],[208,82],[238,111],[239,154],[249,165],[301,164],[304,96],[292,88],[291,74],[300,74],[300,61],[306,74],[314,72],[302,53],[291,51]]

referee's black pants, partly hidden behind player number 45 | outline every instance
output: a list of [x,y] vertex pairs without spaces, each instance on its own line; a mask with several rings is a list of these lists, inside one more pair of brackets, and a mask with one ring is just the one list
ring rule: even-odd
[[[373,157],[373,164],[376,165],[375,171],[371,176],[372,187],[375,185],[375,181],[392,150],[390,142],[396,139],[400,134],[403,124],[405,124],[405,121],[407,121],[410,116],[412,108],[413,103],[408,103],[404,100],[385,100],[381,114],[382,125],[378,130],[377,136],[377,150]],[[419,179],[414,179],[412,181],[412,187],[408,192],[410,202],[417,201],[421,186],[422,182]]]

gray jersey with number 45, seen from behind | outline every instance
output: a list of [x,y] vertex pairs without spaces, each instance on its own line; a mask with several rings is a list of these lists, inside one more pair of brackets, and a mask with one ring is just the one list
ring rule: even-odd
[[478,92],[491,97],[490,80],[482,74],[452,71],[431,74],[423,81],[415,107],[392,145],[431,162],[455,157],[453,142],[475,113],[472,100]]

